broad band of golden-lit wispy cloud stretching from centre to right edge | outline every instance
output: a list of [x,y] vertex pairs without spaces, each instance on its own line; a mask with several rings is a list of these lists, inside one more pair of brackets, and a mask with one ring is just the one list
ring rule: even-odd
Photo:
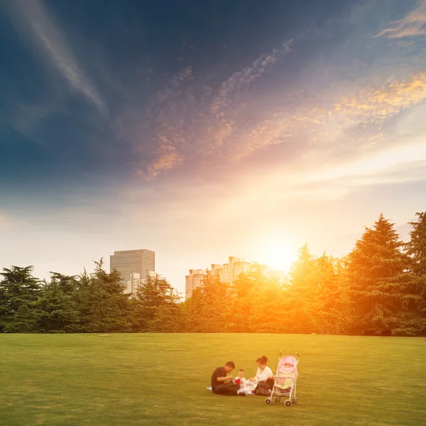
[[[422,22],[425,5],[426,0],[392,25],[403,31],[410,22]],[[410,58],[391,59],[383,45],[380,60],[371,62],[373,53],[365,51],[383,43],[365,43],[372,43],[377,26],[369,28],[368,38],[364,33],[351,34],[344,42],[351,46],[350,53],[337,44],[330,62],[324,63],[323,58],[307,62],[301,77],[292,75],[294,67],[289,62],[290,58],[297,62],[306,48],[306,40],[297,37],[234,72],[217,88],[206,84],[192,67],[183,68],[147,107],[131,109],[117,121],[121,137],[135,147],[138,174],[153,179],[184,165],[185,170],[193,170],[193,165],[236,162],[243,163],[242,170],[244,159],[260,151],[264,158],[280,157],[285,168],[290,166],[287,154],[297,151],[298,160],[312,168],[315,161],[346,164],[403,146],[405,141],[393,138],[391,131],[410,109],[426,102],[426,63],[422,66],[421,55],[415,66],[410,66]],[[381,35],[391,35],[388,30]],[[316,35],[320,39],[321,31]],[[312,44],[324,48],[321,40]],[[311,48],[308,51],[312,54]],[[353,65],[350,75],[348,60]],[[282,76],[274,72],[275,81],[270,84],[268,70],[274,65]]]

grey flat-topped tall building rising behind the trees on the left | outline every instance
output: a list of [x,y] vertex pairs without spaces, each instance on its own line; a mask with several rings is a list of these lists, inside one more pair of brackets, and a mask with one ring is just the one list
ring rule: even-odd
[[132,274],[146,278],[151,271],[155,271],[155,253],[146,249],[114,251],[110,256],[110,271],[114,271],[114,268],[121,273],[123,284],[127,285]]

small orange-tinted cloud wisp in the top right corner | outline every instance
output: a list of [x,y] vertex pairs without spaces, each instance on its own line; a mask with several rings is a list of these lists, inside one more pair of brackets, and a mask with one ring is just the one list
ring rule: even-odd
[[413,11],[410,11],[399,21],[389,23],[375,37],[386,38],[405,38],[426,35],[426,0],[420,0],[419,4]]

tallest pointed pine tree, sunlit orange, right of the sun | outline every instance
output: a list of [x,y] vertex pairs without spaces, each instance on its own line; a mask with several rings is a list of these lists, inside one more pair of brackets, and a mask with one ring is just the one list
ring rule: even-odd
[[410,259],[401,251],[403,243],[393,226],[381,214],[348,256],[356,333],[414,335],[419,331],[413,318],[420,297],[408,273]]

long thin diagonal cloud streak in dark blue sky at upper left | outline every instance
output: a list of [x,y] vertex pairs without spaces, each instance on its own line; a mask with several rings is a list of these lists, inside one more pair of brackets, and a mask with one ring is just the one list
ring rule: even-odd
[[45,60],[65,77],[72,89],[94,104],[102,115],[107,105],[92,81],[84,74],[53,17],[41,0],[10,0],[6,10],[18,33],[34,43]]

